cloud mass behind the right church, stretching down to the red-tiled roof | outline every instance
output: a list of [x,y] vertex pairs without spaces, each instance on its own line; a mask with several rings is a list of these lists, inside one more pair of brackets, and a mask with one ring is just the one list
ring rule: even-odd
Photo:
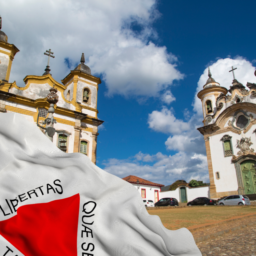
[[[237,68],[236,79],[246,85],[247,82],[256,82],[255,67],[245,58],[237,56],[234,59],[217,59],[211,63],[212,77],[221,86],[229,89],[233,76],[231,67]],[[197,93],[203,89],[208,79],[208,67],[200,76],[195,92],[194,113],[184,110],[185,120],[175,117],[173,109],[162,107],[161,111],[153,111],[148,115],[149,127],[157,132],[169,134],[165,142],[168,150],[176,151],[174,155],[148,155],[139,152],[134,157],[125,160],[110,159],[105,170],[119,177],[136,175],[156,183],[170,185],[178,179],[189,182],[191,179],[209,182],[208,164],[205,152],[205,143],[202,134],[197,130],[203,126],[202,103]],[[148,162],[152,162],[151,165]]]

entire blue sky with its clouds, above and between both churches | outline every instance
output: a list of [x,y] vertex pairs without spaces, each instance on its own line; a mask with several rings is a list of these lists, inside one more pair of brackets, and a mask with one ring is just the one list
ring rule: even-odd
[[231,66],[239,82],[256,82],[254,1],[14,2],[0,1],[2,30],[20,49],[10,81],[42,75],[49,48],[55,80],[82,52],[101,78],[99,167],[164,185],[209,182],[196,95],[208,66],[221,86],[231,85]]

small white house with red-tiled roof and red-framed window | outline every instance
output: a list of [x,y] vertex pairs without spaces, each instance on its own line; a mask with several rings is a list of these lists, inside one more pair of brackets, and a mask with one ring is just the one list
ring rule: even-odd
[[147,181],[133,175],[129,175],[123,178],[123,180],[137,187],[142,198],[145,198],[147,200],[153,200],[153,202],[155,203],[161,199],[160,198],[161,187],[164,187],[165,185]]

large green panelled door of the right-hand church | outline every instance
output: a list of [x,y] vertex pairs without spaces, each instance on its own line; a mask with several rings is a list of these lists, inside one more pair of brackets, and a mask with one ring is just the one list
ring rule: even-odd
[[256,163],[254,160],[246,160],[241,163],[241,170],[243,176],[243,183],[245,194],[256,194],[256,171],[253,165]]

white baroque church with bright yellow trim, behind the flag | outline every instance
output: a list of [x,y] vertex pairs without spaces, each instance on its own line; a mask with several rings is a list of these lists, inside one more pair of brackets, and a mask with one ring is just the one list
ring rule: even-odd
[[59,83],[49,73],[49,59],[54,57],[49,49],[48,54],[45,53],[48,65],[44,74],[27,75],[25,87],[18,87],[15,81],[9,82],[12,61],[18,52],[1,31],[0,17],[0,112],[20,113],[35,125],[38,122],[42,126],[49,109],[46,97],[49,89],[54,87],[58,90],[59,100],[54,105],[57,123],[54,124],[53,143],[60,149],[64,146],[66,153],[81,152],[96,163],[98,126],[104,122],[97,118],[97,93],[101,80],[91,75],[90,68],[84,64],[84,54],[81,63]]

